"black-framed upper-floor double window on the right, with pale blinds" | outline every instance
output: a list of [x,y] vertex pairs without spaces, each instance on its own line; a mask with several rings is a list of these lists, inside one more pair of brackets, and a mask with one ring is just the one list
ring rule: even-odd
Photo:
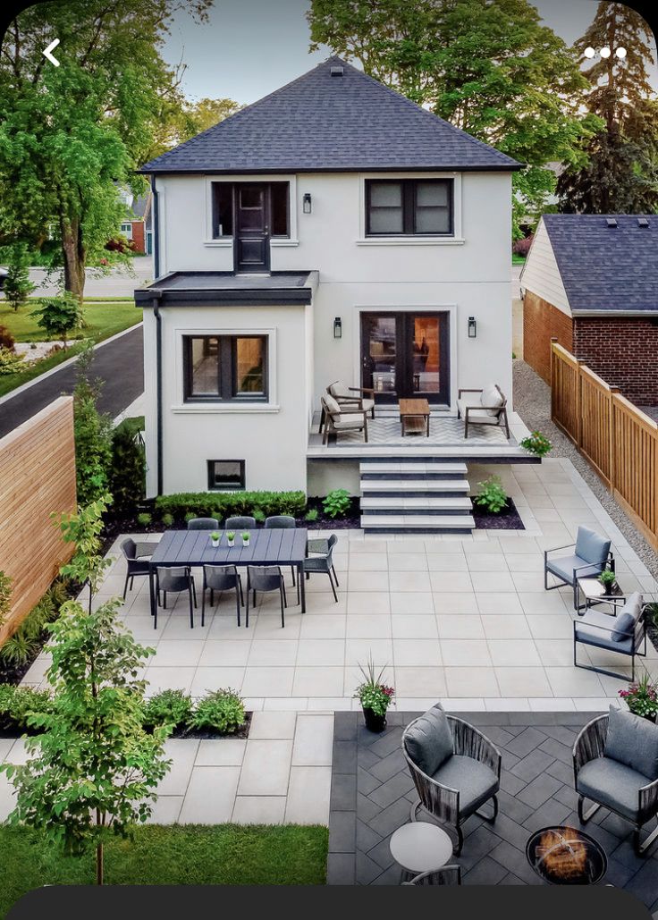
[[452,236],[451,178],[366,179],[367,236]]

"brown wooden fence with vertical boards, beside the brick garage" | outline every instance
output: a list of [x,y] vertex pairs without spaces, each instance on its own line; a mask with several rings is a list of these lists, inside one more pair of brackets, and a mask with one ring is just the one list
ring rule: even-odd
[[658,548],[658,425],[554,339],[550,351],[551,419]]

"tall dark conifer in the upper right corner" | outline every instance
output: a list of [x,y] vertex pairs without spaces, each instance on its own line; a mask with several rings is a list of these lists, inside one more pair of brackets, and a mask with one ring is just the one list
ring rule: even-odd
[[[588,162],[560,176],[560,210],[580,213],[641,213],[658,207],[658,103],[649,82],[652,31],[620,3],[599,3],[592,25],[575,48],[611,54],[590,60],[584,104],[603,120],[587,145]],[[626,57],[618,58],[618,48]]]

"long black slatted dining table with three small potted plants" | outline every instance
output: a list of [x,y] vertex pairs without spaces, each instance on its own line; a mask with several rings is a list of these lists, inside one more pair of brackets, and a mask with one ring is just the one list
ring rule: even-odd
[[[219,533],[219,531],[217,532]],[[307,553],[308,531],[304,527],[260,528],[249,531],[249,544],[244,546],[242,535],[236,534],[236,545],[228,546],[226,531],[222,531],[219,546],[213,546],[210,531],[167,530],[149,559],[149,589],[151,615],[157,627],[156,568],[158,566],[296,566],[302,613],[306,612],[304,560]]]

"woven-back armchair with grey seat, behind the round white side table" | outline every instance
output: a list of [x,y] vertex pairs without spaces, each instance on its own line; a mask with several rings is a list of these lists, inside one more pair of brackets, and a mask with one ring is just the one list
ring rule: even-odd
[[[419,798],[411,806],[411,821],[416,821],[419,811],[424,809],[438,821],[451,825],[457,836],[455,854],[458,856],[464,845],[461,825],[471,814],[477,813],[488,822],[496,820],[501,753],[481,731],[468,722],[455,716],[446,718],[453,736],[453,756],[433,776],[422,772],[407,749],[407,736],[419,719],[410,722],[404,731],[402,753],[409,765]],[[469,764],[469,761],[472,763]],[[490,799],[493,802],[493,813],[482,813],[481,806]]]

